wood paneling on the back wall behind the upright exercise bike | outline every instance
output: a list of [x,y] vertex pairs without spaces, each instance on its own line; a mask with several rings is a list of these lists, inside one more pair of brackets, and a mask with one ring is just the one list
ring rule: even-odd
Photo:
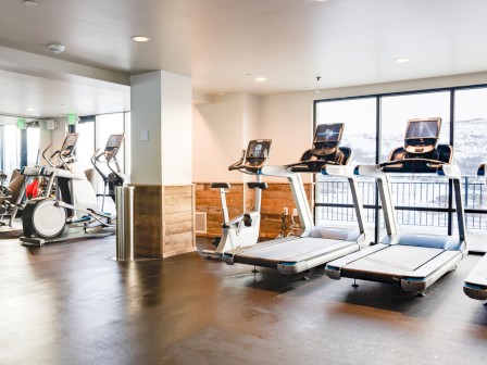
[[[304,188],[308,199],[310,199],[312,197],[310,193],[312,185],[305,184]],[[248,189],[244,184],[232,184],[230,192],[227,193],[230,219],[242,213],[244,199],[246,200],[246,210],[253,210],[254,191]],[[296,207],[289,185],[287,182],[269,184],[269,189],[262,192],[260,237],[275,238],[280,232],[282,215],[285,206],[289,209],[289,214],[292,214],[292,209]],[[207,234],[201,234],[201,236],[221,236],[223,215],[220,190],[210,189],[210,184],[207,182],[196,182],[196,211],[207,213]],[[298,217],[295,217],[295,221],[299,223]],[[287,234],[289,232],[290,216],[286,217],[286,224]]]

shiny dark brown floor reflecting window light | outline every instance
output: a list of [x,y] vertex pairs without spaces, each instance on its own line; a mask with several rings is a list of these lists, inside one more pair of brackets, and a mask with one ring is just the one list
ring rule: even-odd
[[[200,246],[207,246],[200,242]],[[198,252],[116,263],[114,239],[0,241],[0,364],[486,364],[487,307],[462,282],[309,281]]]

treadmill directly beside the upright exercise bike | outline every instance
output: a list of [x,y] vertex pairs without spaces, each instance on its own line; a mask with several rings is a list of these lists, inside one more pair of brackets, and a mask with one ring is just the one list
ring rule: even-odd
[[[357,179],[353,169],[347,166],[351,150],[339,147],[342,133],[342,123],[319,125],[312,149],[304,152],[299,162],[286,166],[264,166],[259,172],[264,176],[288,179],[304,228],[303,234],[300,237],[286,237],[226,251],[223,254],[225,263],[262,266],[283,274],[296,274],[369,246]],[[299,173],[346,177],[350,185],[359,228],[315,227]]]

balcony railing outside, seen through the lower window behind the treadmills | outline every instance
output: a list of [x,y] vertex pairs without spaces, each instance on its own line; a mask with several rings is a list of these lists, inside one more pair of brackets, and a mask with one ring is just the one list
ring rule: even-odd
[[[390,188],[399,225],[448,227],[449,182],[445,179],[391,176]],[[359,181],[365,218],[375,222],[376,185],[373,179]],[[487,229],[487,186],[485,178],[462,177],[465,224],[469,229]],[[315,215],[317,224],[357,221],[349,185],[345,179],[316,181]],[[453,203],[454,211],[454,203]],[[382,219],[382,214],[379,214]],[[457,225],[452,219],[453,227]]]

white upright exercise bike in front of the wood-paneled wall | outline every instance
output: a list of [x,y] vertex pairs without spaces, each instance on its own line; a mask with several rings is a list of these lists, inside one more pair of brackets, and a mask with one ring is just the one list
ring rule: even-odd
[[211,184],[212,189],[220,189],[223,212],[222,237],[216,237],[213,241],[216,248],[214,251],[203,250],[203,254],[220,259],[227,250],[255,244],[258,242],[261,224],[262,190],[267,189],[267,184],[262,182],[262,176],[259,172],[267,164],[270,150],[270,139],[251,140],[247,150],[242,151],[240,160],[228,167],[229,171],[238,171],[255,176],[254,182],[247,182],[249,189],[255,190],[255,205],[253,211],[240,214],[230,221],[226,204],[226,193],[229,191],[230,185],[228,182]]

